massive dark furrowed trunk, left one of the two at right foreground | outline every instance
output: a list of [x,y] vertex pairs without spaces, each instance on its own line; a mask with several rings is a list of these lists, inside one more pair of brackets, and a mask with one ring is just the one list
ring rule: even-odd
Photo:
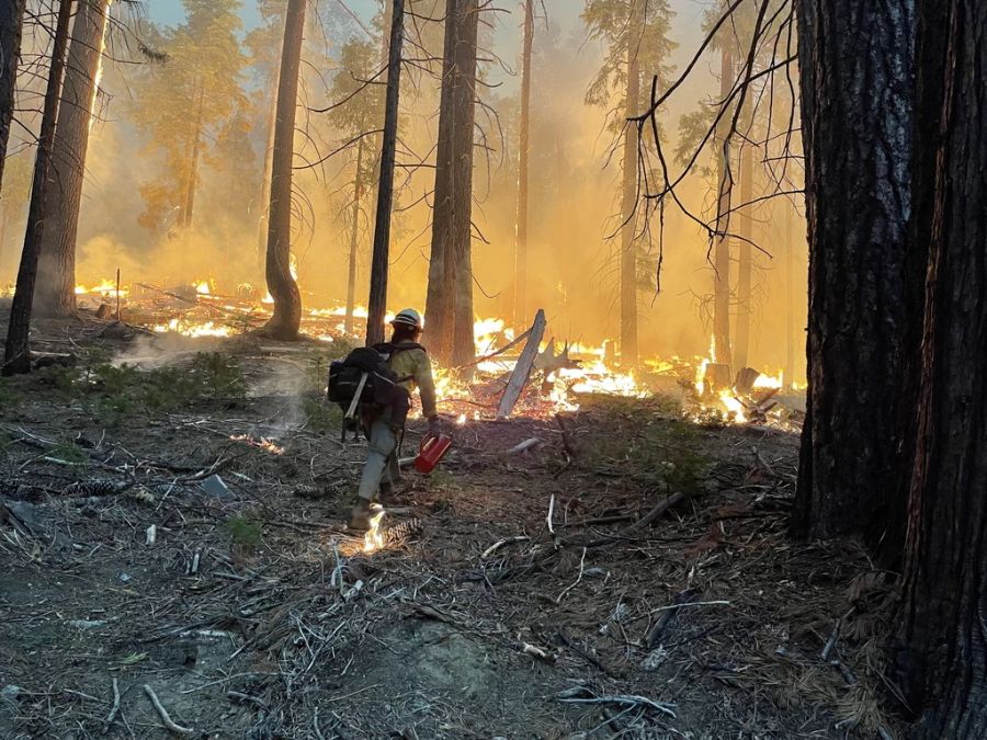
[[799,0],[809,390],[793,512],[803,537],[884,536],[910,212],[914,2]]

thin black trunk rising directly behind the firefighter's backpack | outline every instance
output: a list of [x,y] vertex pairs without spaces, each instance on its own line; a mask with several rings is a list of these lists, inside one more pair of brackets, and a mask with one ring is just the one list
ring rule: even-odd
[[390,212],[394,208],[394,168],[397,155],[398,107],[401,90],[401,46],[405,41],[405,0],[393,0],[390,42],[387,53],[387,95],[384,105],[384,136],[381,145],[381,182],[374,223],[374,252],[371,258],[371,288],[367,301],[366,343],[384,341],[387,315],[387,273],[390,267]]

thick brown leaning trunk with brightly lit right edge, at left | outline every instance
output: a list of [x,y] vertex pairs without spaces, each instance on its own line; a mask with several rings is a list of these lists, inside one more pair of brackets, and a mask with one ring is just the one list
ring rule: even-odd
[[76,235],[86,174],[110,0],[81,0],[72,22],[68,64],[45,197],[44,239],[37,264],[34,310],[38,316],[76,312]]

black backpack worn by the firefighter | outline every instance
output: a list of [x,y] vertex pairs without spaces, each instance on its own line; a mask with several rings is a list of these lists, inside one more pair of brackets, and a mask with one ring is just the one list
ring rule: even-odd
[[411,395],[399,384],[410,378],[399,378],[387,366],[387,361],[398,352],[423,349],[412,342],[356,348],[345,358],[329,365],[329,400],[339,405],[345,421],[353,420],[358,411],[379,412],[390,408],[392,425],[404,426],[411,408]]

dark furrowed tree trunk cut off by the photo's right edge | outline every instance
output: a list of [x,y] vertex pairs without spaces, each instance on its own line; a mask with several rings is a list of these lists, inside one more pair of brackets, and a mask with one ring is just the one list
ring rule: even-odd
[[[987,737],[987,5],[923,0],[914,234],[927,249],[904,608],[894,665],[920,738]],[[934,122],[934,123],[933,123]]]

